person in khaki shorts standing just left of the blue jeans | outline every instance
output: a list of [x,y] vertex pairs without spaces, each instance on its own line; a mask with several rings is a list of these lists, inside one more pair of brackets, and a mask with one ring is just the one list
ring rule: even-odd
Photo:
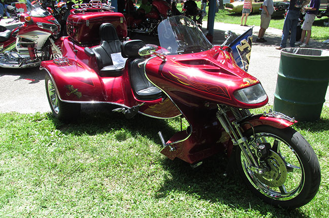
[[267,40],[264,39],[264,33],[269,28],[271,16],[274,12],[273,0],[265,0],[262,4],[262,10],[260,15],[260,29],[258,32],[258,38],[256,42],[265,43]]

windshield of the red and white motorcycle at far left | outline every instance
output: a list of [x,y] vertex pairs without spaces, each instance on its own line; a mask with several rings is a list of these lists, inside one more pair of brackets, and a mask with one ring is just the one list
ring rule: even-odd
[[47,17],[50,15],[36,1],[31,3],[29,0],[18,0],[12,6],[16,8],[17,13],[27,13],[32,17]]

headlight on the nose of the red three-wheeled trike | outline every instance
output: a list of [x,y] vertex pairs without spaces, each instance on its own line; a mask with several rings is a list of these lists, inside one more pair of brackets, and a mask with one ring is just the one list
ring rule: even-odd
[[256,104],[266,100],[267,95],[260,83],[235,91],[234,97],[246,104]]

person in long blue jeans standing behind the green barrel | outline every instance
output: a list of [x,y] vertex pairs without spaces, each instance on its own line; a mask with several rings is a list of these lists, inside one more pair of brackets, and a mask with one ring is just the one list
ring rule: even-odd
[[[284,2],[286,2],[285,0]],[[284,19],[283,24],[283,30],[282,30],[282,36],[281,36],[281,43],[280,46],[276,49],[281,50],[286,47],[287,45],[287,39],[290,34],[290,47],[294,47],[294,44],[296,42],[296,32],[297,32],[297,24],[298,24],[298,18],[301,12],[301,8],[306,6],[309,3],[309,1],[303,1],[303,0],[291,0],[288,8],[287,15]]]

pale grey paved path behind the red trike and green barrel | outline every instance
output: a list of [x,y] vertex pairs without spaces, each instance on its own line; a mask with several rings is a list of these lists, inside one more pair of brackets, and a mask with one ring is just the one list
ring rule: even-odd
[[[221,44],[224,41],[223,35],[226,30],[232,30],[240,35],[247,29],[248,27],[235,24],[216,23],[214,44]],[[258,30],[259,27],[254,27],[254,40]],[[280,51],[275,47],[280,43],[281,30],[269,28],[265,38],[268,40],[266,44],[254,43],[252,45],[249,74],[259,79],[270,98],[269,103],[273,104],[280,60]],[[312,40],[310,45],[315,48],[324,46],[324,49],[329,49],[329,46]],[[40,71],[39,68],[0,68],[0,113],[49,112],[44,78],[45,72]],[[329,90],[326,95],[326,105],[329,105]]]

